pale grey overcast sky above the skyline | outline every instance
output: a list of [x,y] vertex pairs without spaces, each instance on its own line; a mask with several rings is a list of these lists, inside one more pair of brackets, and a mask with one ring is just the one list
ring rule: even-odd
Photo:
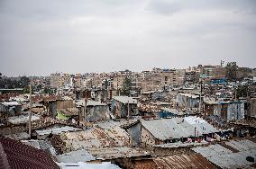
[[256,67],[256,1],[0,0],[0,59],[5,76]]

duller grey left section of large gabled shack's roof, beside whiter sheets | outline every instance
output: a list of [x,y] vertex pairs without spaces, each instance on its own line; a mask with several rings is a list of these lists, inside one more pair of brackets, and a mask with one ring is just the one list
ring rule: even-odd
[[[195,136],[195,128],[183,118],[141,120],[142,126],[160,140]],[[202,133],[198,133],[202,136]]]

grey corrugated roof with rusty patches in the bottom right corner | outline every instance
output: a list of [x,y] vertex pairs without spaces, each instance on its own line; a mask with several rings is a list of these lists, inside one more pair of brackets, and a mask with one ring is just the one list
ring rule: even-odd
[[[233,151],[218,144],[208,147],[194,147],[191,149],[205,156],[206,159],[221,168],[245,168],[253,164],[247,161],[246,157],[252,156],[254,159],[256,158],[256,143],[249,140],[237,140],[226,142],[226,144],[240,149],[240,151],[233,153]],[[242,144],[245,144],[245,146],[242,146]],[[235,147],[235,145],[238,147]]]

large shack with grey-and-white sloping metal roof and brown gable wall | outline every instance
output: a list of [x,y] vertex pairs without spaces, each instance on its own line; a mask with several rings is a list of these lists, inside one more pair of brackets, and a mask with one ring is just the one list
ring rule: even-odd
[[197,117],[141,120],[141,123],[142,147],[184,142],[187,138],[203,139],[206,135],[210,134],[209,137],[213,137],[214,133],[219,132],[206,120]]

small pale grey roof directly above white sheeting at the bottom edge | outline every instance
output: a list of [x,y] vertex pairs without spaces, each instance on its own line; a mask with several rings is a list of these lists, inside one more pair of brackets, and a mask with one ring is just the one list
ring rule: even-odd
[[95,156],[92,156],[85,149],[78,151],[71,151],[69,153],[57,156],[57,160],[63,163],[78,163],[96,160]]

